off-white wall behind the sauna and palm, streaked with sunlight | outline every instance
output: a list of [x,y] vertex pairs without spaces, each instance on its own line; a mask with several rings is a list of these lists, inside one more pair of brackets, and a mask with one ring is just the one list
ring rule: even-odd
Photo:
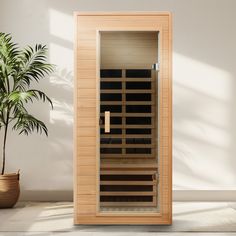
[[9,137],[7,170],[21,169],[22,198],[72,196],[73,11],[77,10],[173,13],[173,184],[175,190],[184,190],[176,196],[190,199],[196,192],[190,196],[189,191],[205,190],[204,199],[208,190],[215,190],[212,199],[218,198],[216,192],[233,198],[235,9],[234,0],[0,0],[0,30],[12,33],[21,46],[47,44],[50,61],[58,66],[55,75],[41,84],[55,109],[40,104],[33,111],[48,124],[49,138]]

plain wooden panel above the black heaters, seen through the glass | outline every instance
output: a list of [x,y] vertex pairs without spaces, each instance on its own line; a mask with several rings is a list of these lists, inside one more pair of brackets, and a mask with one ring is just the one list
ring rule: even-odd
[[101,69],[150,69],[157,60],[157,32],[103,32]]

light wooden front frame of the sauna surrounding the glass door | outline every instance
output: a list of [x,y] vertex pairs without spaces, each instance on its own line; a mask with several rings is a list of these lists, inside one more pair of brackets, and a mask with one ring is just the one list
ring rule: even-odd
[[[75,21],[74,222],[75,224],[170,224],[172,219],[171,15],[165,12],[77,12]],[[99,210],[98,36],[99,31],[126,30],[160,33],[159,213],[103,213]],[[132,134],[129,136],[132,137]],[[146,134],[145,137],[150,135]],[[102,160],[101,166],[107,167],[106,161]],[[110,166],[112,165],[117,167],[117,163],[112,163]],[[147,169],[153,166],[151,162],[141,165]],[[129,169],[132,168],[132,163],[125,161],[120,167]]]

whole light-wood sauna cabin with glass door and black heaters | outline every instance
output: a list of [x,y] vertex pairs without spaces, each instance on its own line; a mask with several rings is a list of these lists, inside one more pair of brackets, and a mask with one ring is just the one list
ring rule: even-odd
[[75,224],[170,224],[170,14],[75,20]]

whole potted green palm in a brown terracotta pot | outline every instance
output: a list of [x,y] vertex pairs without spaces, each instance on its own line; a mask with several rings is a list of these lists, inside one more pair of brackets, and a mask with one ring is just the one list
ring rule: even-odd
[[51,72],[53,65],[47,63],[46,46],[20,49],[10,34],[0,33],[0,132],[3,134],[0,208],[13,207],[20,193],[19,171],[5,173],[7,134],[11,128],[19,134],[36,131],[48,135],[46,125],[29,113],[26,104],[42,100],[52,106],[44,92],[32,88],[33,82]]

